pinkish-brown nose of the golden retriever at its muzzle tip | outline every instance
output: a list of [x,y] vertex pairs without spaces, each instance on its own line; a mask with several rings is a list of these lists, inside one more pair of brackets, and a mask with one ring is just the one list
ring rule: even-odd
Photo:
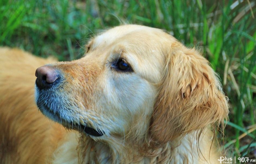
[[59,70],[51,66],[41,66],[35,72],[36,86],[40,89],[48,89],[57,83],[60,77]]

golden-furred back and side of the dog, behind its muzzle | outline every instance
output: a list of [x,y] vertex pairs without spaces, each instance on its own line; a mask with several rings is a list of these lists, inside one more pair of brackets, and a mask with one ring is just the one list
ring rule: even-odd
[[0,163],[49,162],[66,133],[35,104],[35,69],[52,62],[18,49],[0,49]]

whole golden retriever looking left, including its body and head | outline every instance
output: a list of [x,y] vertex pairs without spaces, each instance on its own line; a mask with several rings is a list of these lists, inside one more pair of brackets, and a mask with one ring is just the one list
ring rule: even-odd
[[228,103],[197,50],[141,25],[86,47],[70,62],[0,49],[0,163],[219,163]]

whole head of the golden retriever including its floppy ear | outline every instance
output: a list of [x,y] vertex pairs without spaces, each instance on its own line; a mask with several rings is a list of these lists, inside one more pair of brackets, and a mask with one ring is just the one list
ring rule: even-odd
[[156,28],[112,28],[87,44],[83,58],[39,67],[36,76],[41,112],[95,140],[167,142],[228,113],[207,60]]

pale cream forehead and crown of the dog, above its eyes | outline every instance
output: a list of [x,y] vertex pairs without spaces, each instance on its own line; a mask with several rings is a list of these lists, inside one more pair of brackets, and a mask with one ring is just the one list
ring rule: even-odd
[[[96,36],[91,41],[92,50],[117,51],[127,50],[140,54],[140,57],[163,57],[163,50],[176,39],[161,29],[142,25],[121,25],[111,28]],[[162,55],[159,55],[161,53]],[[158,54],[158,55],[157,55]],[[153,55],[153,56],[152,56]]]

